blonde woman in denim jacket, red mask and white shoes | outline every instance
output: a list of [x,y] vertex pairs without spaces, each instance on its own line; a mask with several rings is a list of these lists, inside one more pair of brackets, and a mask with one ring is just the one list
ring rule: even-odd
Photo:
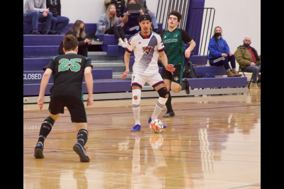
[[118,45],[125,48],[128,41],[122,29],[123,25],[123,22],[118,24],[115,5],[110,4],[109,7],[107,7],[106,13],[100,16],[99,22],[97,23],[96,35],[114,34],[119,42]]

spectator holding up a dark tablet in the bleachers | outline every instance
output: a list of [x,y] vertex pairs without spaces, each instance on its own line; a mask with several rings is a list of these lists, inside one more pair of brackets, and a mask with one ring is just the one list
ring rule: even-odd
[[[129,4],[136,4],[138,3],[137,0],[128,0],[127,1],[127,6]],[[141,27],[139,26],[139,22],[137,21],[138,17],[140,15],[143,15],[144,12],[142,9],[140,9],[140,14],[135,13],[135,14],[129,14],[128,8],[124,9],[124,26],[123,30],[126,34],[135,34],[141,30]]]

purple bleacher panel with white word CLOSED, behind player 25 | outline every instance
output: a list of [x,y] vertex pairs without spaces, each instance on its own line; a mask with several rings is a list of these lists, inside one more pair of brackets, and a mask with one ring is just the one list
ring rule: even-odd
[[[24,71],[24,82],[40,82],[43,73],[44,71]],[[92,69],[92,75],[93,79],[112,79],[112,69]],[[49,81],[53,81],[52,77]]]

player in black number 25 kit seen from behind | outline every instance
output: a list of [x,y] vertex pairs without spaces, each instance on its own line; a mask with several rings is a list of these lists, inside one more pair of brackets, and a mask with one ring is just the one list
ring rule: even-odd
[[50,103],[48,117],[43,121],[39,132],[38,143],[35,146],[35,158],[43,158],[43,143],[50,133],[53,124],[59,117],[59,113],[64,113],[64,107],[70,112],[71,121],[78,131],[78,142],[73,146],[73,150],[79,155],[81,162],[89,162],[84,145],[88,140],[87,117],[83,104],[82,82],[85,82],[88,89],[87,106],[93,104],[93,76],[91,61],[78,53],[78,40],[73,35],[66,35],[63,39],[65,55],[54,57],[47,66],[42,79],[38,97],[40,110],[44,103],[44,92],[53,74],[54,85],[50,89]]

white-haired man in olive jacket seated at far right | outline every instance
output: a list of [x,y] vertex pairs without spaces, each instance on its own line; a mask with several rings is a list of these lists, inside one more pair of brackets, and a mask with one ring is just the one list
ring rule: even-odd
[[260,76],[257,76],[260,72],[260,57],[256,50],[251,46],[251,37],[246,36],[243,40],[243,45],[240,45],[234,53],[237,62],[245,72],[252,72],[252,84],[251,88],[260,88]]

